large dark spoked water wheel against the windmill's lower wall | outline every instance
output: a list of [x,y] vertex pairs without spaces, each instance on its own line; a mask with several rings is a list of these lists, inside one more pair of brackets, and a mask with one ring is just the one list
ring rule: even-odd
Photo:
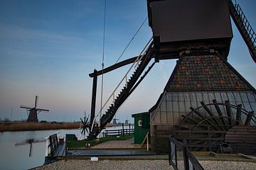
[[253,111],[245,111],[242,104],[237,106],[225,103],[205,104],[201,102],[198,108],[191,107],[191,112],[181,115],[180,125],[176,126],[176,140],[186,140],[188,147],[193,150],[216,151],[219,142],[225,141],[225,134],[234,126],[256,125]]

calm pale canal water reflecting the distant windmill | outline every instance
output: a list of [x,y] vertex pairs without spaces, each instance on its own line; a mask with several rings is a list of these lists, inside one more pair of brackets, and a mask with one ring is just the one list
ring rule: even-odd
[[[107,129],[121,128],[111,127]],[[65,134],[75,134],[77,137],[80,137],[80,131],[76,129],[0,132],[0,169],[31,169],[43,165],[46,154],[46,142],[33,143],[32,157],[28,157],[30,145],[15,146],[15,144],[23,142],[28,138],[42,140],[44,137],[48,137],[58,131],[60,131],[62,137],[65,137]]]

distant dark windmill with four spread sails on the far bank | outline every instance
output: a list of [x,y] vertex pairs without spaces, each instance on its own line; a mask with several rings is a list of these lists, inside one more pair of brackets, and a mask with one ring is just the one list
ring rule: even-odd
[[23,106],[23,105],[21,105],[20,108],[26,108],[26,111],[27,111],[27,112],[29,111],[27,122],[38,122],[38,117],[37,117],[37,115],[38,115],[41,111],[44,111],[44,112],[48,112],[48,111],[49,111],[48,109],[36,108],[36,107],[37,107],[37,104],[38,104],[38,96],[36,96],[35,107],[32,108],[32,107],[28,107],[28,106]]

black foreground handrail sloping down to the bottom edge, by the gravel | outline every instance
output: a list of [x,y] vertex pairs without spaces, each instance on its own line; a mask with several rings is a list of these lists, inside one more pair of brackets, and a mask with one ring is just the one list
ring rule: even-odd
[[174,138],[169,138],[169,164],[175,170],[204,170],[192,152],[186,147],[186,140],[183,143]]

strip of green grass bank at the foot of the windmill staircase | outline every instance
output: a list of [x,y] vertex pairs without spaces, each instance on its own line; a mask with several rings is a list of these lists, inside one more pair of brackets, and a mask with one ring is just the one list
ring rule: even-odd
[[81,147],[85,147],[85,145],[87,145],[88,143],[90,143],[90,146],[95,146],[95,145],[98,145],[100,143],[103,143],[103,142],[107,142],[107,141],[110,141],[110,140],[127,140],[129,138],[132,138],[134,137],[134,135],[124,135],[123,137],[120,136],[120,137],[101,137],[99,139],[96,139],[96,140],[78,140],[78,141],[68,141],[67,142],[67,147],[69,149],[75,149],[75,148],[81,148]]

